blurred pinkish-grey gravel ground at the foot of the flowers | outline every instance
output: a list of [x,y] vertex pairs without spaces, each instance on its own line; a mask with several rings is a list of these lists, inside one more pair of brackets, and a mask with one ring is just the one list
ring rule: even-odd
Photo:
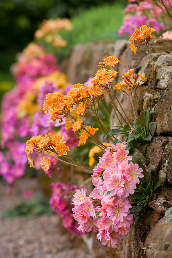
[[[16,182],[11,196],[0,182],[0,217],[3,212],[24,200],[22,190],[40,191],[36,179],[21,179]],[[25,219],[22,217],[0,219],[1,258],[104,258],[108,249],[93,235],[94,254],[90,253],[82,237],[72,237],[62,229],[56,214],[44,214]]]

